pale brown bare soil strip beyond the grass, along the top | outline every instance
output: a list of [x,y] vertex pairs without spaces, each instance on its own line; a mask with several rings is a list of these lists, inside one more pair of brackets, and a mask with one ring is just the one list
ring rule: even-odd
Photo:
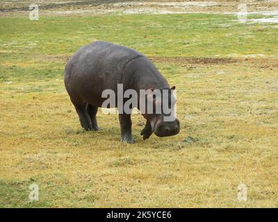
[[[0,1],[0,15],[26,14],[33,1]],[[238,12],[238,4],[246,3],[248,12],[278,10],[276,0],[249,1],[88,1],[88,0],[54,0],[36,1],[40,15],[99,15],[99,14],[169,14],[186,12],[234,13]]]

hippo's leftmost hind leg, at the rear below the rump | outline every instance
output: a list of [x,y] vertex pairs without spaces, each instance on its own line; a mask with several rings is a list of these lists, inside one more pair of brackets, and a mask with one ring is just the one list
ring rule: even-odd
[[92,121],[90,119],[90,115],[88,114],[85,106],[86,103],[82,101],[81,99],[73,99],[72,97],[70,98],[72,100],[72,103],[74,104],[75,110],[77,114],[79,115],[79,120],[81,123],[81,126],[86,130],[92,130]]

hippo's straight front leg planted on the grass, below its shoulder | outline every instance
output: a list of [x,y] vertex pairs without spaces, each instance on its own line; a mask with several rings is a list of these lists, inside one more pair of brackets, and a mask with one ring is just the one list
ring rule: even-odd
[[122,142],[134,144],[135,139],[131,135],[131,114],[119,114]]

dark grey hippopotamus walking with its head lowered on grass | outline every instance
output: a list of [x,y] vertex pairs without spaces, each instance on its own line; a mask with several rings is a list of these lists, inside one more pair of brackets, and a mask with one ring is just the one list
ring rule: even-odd
[[[167,90],[166,97],[169,96],[169,103],[176,103],[173,96],[175,87],[170,88],[167,80],[149,58],[134,49],[110,42],[97,41],[82,46],[67,61],[64,81],[81,126],[85,130],[99,130],[97,110],[106,100],[102,93],[106,89],[117,92],[119,84],[122,84],[124,90],[134,89],[138,94],[141,89],[148,92],[154,92],[154,89]],[[148,98],[146,96],[145,99]],[[164,99],[152,99],[154,104],[163,105]],[[117,103],[114,107],[117,108]],[[140,107],[137,108],[140,110]],[[175,116],[172,121],[164,120],[163,117],[167,116],[164,112],[142,112],[142,116],[147,120],[140,133],[143,139],[148,139],[152,133],[158,137],[179,133],[179,120]],[[119,113],[119,120],[122,142],[133,144],[135,140],[131,134],[131,113]]]

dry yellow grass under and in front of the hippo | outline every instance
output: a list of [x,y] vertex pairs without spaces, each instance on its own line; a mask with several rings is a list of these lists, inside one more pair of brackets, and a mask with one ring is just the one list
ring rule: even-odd
[[[43,207],[277,207],[276,69],[194,66],[194,76],[187,66],[179,80],[168,76],[181,133],[143,141],[137,114],[134,145],[120,143],[116,114],[98,114],[101,132],[81,130],[62,80],[1,83],[2,186],[26,189],[11,205],[28,206],[35,182],[41,202],[33,204]],[[25,93],[32,85],[44,92]],[[189,136],[194,142],[184,141]]]

